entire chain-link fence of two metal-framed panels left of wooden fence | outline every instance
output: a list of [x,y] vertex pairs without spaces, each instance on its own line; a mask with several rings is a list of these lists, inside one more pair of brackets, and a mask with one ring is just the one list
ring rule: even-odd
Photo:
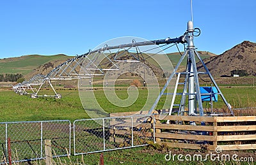
[[76,120],[73,127],[69,120],[0,122],[0,164],[8,164],[9,155],[12,162],[45,159],[45,140],[51,140],[53,157],[71,155],[71,149],[80,155],[140,147],[155,140],[154,116]]

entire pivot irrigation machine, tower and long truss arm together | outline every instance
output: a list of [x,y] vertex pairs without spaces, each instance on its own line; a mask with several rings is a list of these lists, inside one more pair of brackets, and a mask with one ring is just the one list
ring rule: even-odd
[[[188,22],[188,28],[186,32],[184,32],[184,34],[182,36],[179,36],[178,38],[166,38],[139,42],[136,42],[136,39],[132,39],[132,43],[126,43],[122,45],[108,46],[108,44],[105,44],[103,47],[96,48],[95,50],[89,50],[89,52],[86,54],[77,55],[73,59],[63,62],[56,68],[52,69],[52,71],[46,76],[36,75],[33,76],[33,78],[31,78],[29,81],[18,83],[13,87],[13,89],[15,90],[15,92],[21,95],[28,94],[26,90],[30,89],[33,92],[33,94],[31,94],[32,98],[61,98],[61,95],[58,94],[54,89],[51,83],[52,80],[87,79],[90,80],[89,83],[90,85],[92,85],[93,76],[108,76],[106,74],[108,71],[120,70],[120,66],[118,66],[118,64],[120,63],[118,62],[145,62],[146,59],[154,55],[161,55],[164,50],[167,50],[168,48],[171,48],[173,46],[177,46],[177,44],[181,43],[184,45],[184,54],[180,53],[182,56],[180,57],[179,62],[177,62],[177,65],[172,71],[169,70],[168,74],[166,74],[169,75],[166,76],[166,83],[160,92],[158,90],[159,95],[155,99],[154,104],[152,104],[151,108],[148,108],[148,115],[151,115],[154,112],[162,96],[171,96],[170,98],[172,98],[169,100],[171,101],[171,103],[169,104],[170,111],[168,112],[168,115],[171,115],[174,109],[178,109],[178,115],[184,115],[184,113],[187,112],[188,115],[204,116],[206,113],[203,108],[204,101],[209,101],[209,104],[211,104],[211,111],[207,112],[207,114],[214,115],[212,111],[212,102],[218,101],[218,96],[221,96],[221,99],[223,100],[225,106],[227,106],[229,113],[231,115],[234,115],[230,104],[228,104],[227,100],[223,96],[220,88],[214,81],[214,78],[212,77],[209,69],[207,69],[204,61],[202,60],[198,52],[196,52],[193,38],[200,35],[200,29],[193,27],[192,1],[191,18],[191,21]],[[155,47],[148,47],[150,45],[154,45]],[[162,49],[161,51],[154,52],[154,54],[148,55],[148,57],[143,56],[145,52],[154,50],[156,48]],[[204,68],[204,71],[198,71],[198,69],[196,68],[196,60],[199,61],[200,64],[202,64],[202,68]],[[186,70],[180,72],[179,67],[182,61],[186,61]],[[200,87],[200,75],[208,76],[211,79],[211,87]],[[143,78],[145,79],[145,69]],[[170,83],[172,80],[175,80],[174,90],[173,92],[168,92],[168,90],[166,89],[168,89],[168,87],[172,85]],[[39,91],[42,90],[42,87],[46,83],[49,85],[49,87],[52,88],[54,94],[39,94]],[[106,85],[108,85],[108,80],[106,82]],[[143,85],[148,85],[145,83],[145,80]],[[179,85],[182,86],[182,92],[177,92]],[[175,104],[175,99],[177,99],[177,96],[181,96],[179,104]],[[188,110],[186,110],[186,106],[188,106]],[[221,113],[218,115],[225,115],[225,113]]]

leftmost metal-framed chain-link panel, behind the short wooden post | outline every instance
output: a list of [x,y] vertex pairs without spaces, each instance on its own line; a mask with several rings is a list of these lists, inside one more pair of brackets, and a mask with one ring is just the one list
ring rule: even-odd
[[0,163],[8,163],[8,138],[12,148],[12,161],[22,162],[44,159],[44,140],[51,140],[54,157],[70,155],[70,137],[69,120],[1,122]]

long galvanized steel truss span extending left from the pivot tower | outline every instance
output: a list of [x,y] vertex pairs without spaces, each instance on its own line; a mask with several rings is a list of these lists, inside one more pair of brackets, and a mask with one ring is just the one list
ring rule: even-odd
[[[39,90],[45,83],[49,83],[54,90],[54,87],[51,84],[51,80],[76,80],[81,78],[92,78],[92,76],[104,75],[106,71],[109,70],[118,70],[116,62],[138,62],[143,61],[144,57],[142,52],[140,52],[140,47],[145,47],[148,45],[161,45],[167,46],[167,48],[172,47],[170,43],[184,43],[182,40],[183,36],[179,38],[166,38],[159,39],[154,41],[143,41],[138,42],[133,39],[132,43],[117,45],[108,47],[104,45],[102,48],[97,48],[96,50],[90,50],[86,54],[77,55],[73,59],[63,62],[56,68],[52,69],[46,76],[44,75],[35,75],[29,81],[24,81],[18,83],[13,87],[15,92],[23,95],[28,94],[26,89],[31,89],[33,94],[31,97],[40,97],[38,95]],[[135,48],[136,52],[131,52],[131,48]],[[166,48],[165,48],[166,49]],[[145,50],[144,52],[147,52]],[[102,62],[103,61],[103,62]],[[33,88],[33,86],[39,85],[38,89]],[[54,90],[54,95],[51,97],[60,98],[60,94],[56,93]],[[46,97],[47,95],[44,95]]]

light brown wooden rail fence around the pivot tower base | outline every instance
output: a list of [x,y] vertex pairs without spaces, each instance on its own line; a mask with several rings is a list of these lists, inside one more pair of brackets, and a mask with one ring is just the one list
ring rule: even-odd
[[[113,113],[115,116],[132,115]],[[150,130],[144,136],[155,134],[156,142],[175,148],[209,150],[250,150],[256,149],[256,116],[240,117],[191,117],[154,115],[155,122],[148,120],[136,127]],[[194,122],[194,125],[191,125]],[[169,123],[169,124],[167,124]],[[202,126],[205,125],[205,126]],[[152,131],[154,130],[154,133]],[[128,131],[128,130],[127,130]],[[125,130],[112,130],[113,134],[125,134]],[[138,131],[134,134],[141,133]]]

